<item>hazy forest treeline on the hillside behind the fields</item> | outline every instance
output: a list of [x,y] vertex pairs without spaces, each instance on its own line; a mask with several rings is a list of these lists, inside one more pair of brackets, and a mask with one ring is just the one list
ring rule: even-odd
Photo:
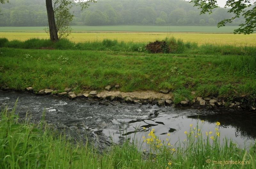
[[[3,4],[0,26],[47,26],[44,0],[10,0]],[[98,0],[84,11],[73,6],[72,25],[217,25],[231,18],[228,9],[217,8],[212,14],[199,15],[197,7],[184,0]],[[240,25],[244,18],[231,24]]]

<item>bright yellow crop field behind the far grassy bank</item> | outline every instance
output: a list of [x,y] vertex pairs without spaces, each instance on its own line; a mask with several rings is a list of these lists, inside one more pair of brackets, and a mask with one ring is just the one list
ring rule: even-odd
[[[256,34],[216,34],[216,33],[72,33],[68,39],[74,42],[96,41],[103,39],[117,39],[118,41],[149,42],[162,40],[165,37],[175,37],[184,42],[196,42],[198,45],[205,43],[226,44],[236,46],[255,46]],[[27,40],[30,38],[47,39],[49,36],[43,32],[0,32],[0,38],[9,40]]]

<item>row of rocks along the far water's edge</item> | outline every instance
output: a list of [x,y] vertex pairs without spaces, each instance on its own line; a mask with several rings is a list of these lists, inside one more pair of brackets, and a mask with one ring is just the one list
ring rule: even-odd
[[[114,88],[118,89],[120,86],[116,85]],[[91,104],[100,105],[109,105],[112,101],[119,101],[121,103],[125,102],[128,104],[156,104],[160,107],[162,106],[171,106],[175,107],[185,107],[192,109],[206,109],[206,110],[214,110],[214,111],[255,111],[256,108],[253,106],[248,106],[245,103],[240,102],[225,102],[223,99],[218,99],[215,97],[196,97],[192,100],[192,102],[185,98],[184,101],[181,101],[179,104],[173,103],[173,95],[169,92],[169,90],[160,90],[160,92],[154,91],[140,91],[140,92],[120,92],[118,90],[111,91],[113,87],[107,86],[104,91],[97,92],[93,91],[85,91],[83,94],[79,93],[76,95],[75,92],[71,91],[72,88],[65,88],[65,92],[58,93],[57,90],[54,89],[43,89],[39,92],[35,92],[33,88],[28,87],[26,90],[28,92],[34,92],[36,95],[53,95],[54,97],[68,97],[69,99],[75,98],[87,98],[91,99]],[[5,88],[8,89],[8,88]],[[195,95],[195,92],[191,92],[192,95]]]

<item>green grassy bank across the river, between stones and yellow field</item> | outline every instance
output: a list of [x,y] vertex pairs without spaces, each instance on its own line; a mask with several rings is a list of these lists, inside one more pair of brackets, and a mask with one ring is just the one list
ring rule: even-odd
[[80,93],[120,84],[124,92],[168,89],[174,103],[193,99],[191,91],[196,96],[255,102],[255,47],[197,46],[172,40],[172,53],[152,54],[145,51],[145,43],[109,39],[77,44],[1,39],[0,86],[60,92],[71,87]]

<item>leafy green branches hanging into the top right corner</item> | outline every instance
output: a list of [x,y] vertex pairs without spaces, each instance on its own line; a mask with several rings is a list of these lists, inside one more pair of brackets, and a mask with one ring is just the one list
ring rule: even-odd
[[[194,6],[198,6],[198,9],[202,9],[200,14],[212,13],[212,9],[218,8],[216,0],[191,0],[190,3],[194,3]],[[253,8],[249,8],[254,5]],[[227,23],[233,22],[236,18],[240,18],[240,15],[244,16],[245,24],[240,24],[240,28],[234,30],[234,34],[244,33],[250,34],[256,31],[256,2],[251,3],[251,0],[228,0],[225,8],[230,8],[229,13],[234,13],[235,16],[229,19],[223,19],[218,23],[218,27],[225,26]]]

